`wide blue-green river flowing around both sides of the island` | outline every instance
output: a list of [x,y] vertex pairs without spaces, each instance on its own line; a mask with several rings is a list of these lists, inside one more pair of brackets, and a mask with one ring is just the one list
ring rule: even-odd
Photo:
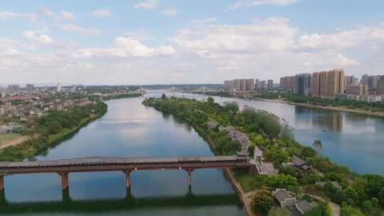
[[[151,93],[146,97],[159,97]],[[206,99],[203,95],[178,97]],[[357,173],[384,175],[384,119],[350,112],[274,102],[214,97],[265,109],[289,121],[296,139]],[[141,104],[143,97],[108,101],[104,117],[92,121],[37,160],[85,156],[211,156],[208,144],[190,126]],[[220,170],[136,171],[127,193],[124,174],[70,173],[62,193],[56,174],[6,176],[1,215],[243,215],[242,205]],[[5,198],[4,198],[5,196]],[[5,204],[4,204],[5,203]]]

